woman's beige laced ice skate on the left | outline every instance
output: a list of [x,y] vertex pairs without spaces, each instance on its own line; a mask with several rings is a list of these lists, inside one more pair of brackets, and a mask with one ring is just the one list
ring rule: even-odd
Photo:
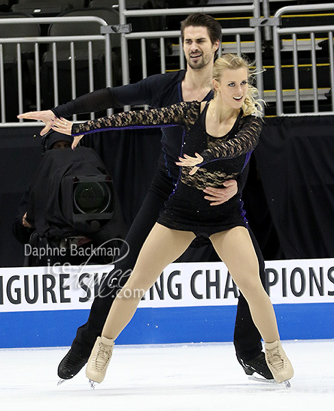
[[114,344],[114,340],[106,337],[97,337],[86,368],[86,377],[90,380],[91,388],[94,388],[95,382],[103,382],[107,366],[112,358]]

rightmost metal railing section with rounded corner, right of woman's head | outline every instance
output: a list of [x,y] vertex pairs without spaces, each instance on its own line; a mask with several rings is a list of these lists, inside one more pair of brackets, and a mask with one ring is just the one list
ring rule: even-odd
[[[277,23],[273,25],[273,47],[274,47],[274,76],[275,76],[275,87],[276,87],[276,104],[277,104],[277,116],[298,116],[303,115],[328,115],[334,114],[334,45],[333,45],[333,31],[334,25],[319,25],[312,27],[279,27],[280,19],[283,14],[291,14],[297,12],[319,12],[334,10],[334,3],[325,3],[318,5],[290,5],[280,10],[274,14],[274,18],[277,19]],[[313,111],[301,112],[300,101],[302,95],[300,93],[300,76],[298,72],[298,34],[309,34],[311,43],[311,77],[312,77],[312,88],[311,95],[307,98],[313,101]],[[319,110],[319,89],[318,89],[318,69],[317,69],[317,57],[316,57],[316,34],[322,33],[326,34],[326,40],[329,42],[329,79],[330,79],[330,89],[331,89],[331,108],[329,111]],[[295,99],[295,113],[284,113],[283,110],[283,82],[282,82],[282,64],[281,64],[281,54],[284,52],[281,47],[281,37],[283,35],[292,36],[292,66],[294,72],[294,99]],[[329,92],[329,90],[327,90]],[[326,99],[326,97],[324,97]]]

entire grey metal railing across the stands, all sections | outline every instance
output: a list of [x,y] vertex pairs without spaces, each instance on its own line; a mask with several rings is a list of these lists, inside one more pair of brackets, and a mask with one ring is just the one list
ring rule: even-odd
[[[259,97],[268,99],[268,101],[273,101],[276,99],[276,110],[277,116],[284,116],[284,115],[300,115],[300,114],[316,114],[316,115],[324,115],[324,114],[334,114],[334,96],[333,96],[333,86],[334,86],[334,61],[333,61],[333,25],[319,25],[313,27],[281,27],[281,16],[284,14],[292,14],[292,13],[303,13],[303,12],[314,12],[314,11],[326,11],[326,10],[334,10],[334,4],[323,4],[323,5],[298,5],[298,6],[287,6],[285,8],[281,8],[274,14],[273,18],[261,18],[261,11],[260,11],[260,0],[255,0],[253,3],[250,4],[242,4],[242,5],[233,5],[233,6],[211,6],[211,7],[203,7],[203,8],[179,8],[179,9],[153,9],[153,10],[127,10],[126,9],[126,0],[119,0],[119,12],[120,12],[120,26],[125,25],[127,23],[127,18],[142,18],[147,16],[187,16],[192,12],[206,12],[208,14],[219,14],[219,16],[230,16],[233,14],[233,17],[237,16],[238,14],[245,12],[249,12],[250,18],[247,22],[253,21],[249,27],[237,27],[237,28],[222,28],[222,36],[223,42],[224,38],[229,36],[234,40],[229,42],[228,44],[225,42],[223,44],[224,51],[234,52],[237,54],[245,53],[251,54],[252,57],[254,56],[254,60],[257,66],[257,88],[259,88],[260,95]],[[268,10],[266,11],[268,14]],[[252,18],[253,17],[253,18]],[[266,24],[266,21],[270,21],[270,24]],[[42,92],[41,92],[41,84],[40,84],[40,45],[43,43],[49,44],[50,53],[52,55],[52,72],[53,72],[53,104],[58,105],[60,102],[59,90],[61,86],[61,82],[58,74],[58,60],[57,55],[59,57],[59,53],[57,53],[57,49],[60,43],[68,42],[68,60],[70,60],[70,98],[75,99],[77,97],[77,76],[76,76],[76,44],[77,42],[86,42],[87,43],[87,52],[88,52],[88,71],[89,71],[89,80],[88,80],[88,88],[89,91],[93,91],[94,87],[94,64],[93,64],[93,46],[94,42],[103,42],[104,43],[104,51],[105,51],[105,87],[112,86],[112,38],[110,35],[112,30],[104,30],[107,23],[99,17],[96,16],[73,16],[73,17],[49,17],[49,18],[5,18],[0,19],[1,24],[13,24],[13,25],[20,25],[20,24],[52,24],[52,23],[69,23],[69,22],[81,22],[81,23],[88,23],[94,22],[99,23],[103,29],[101,29],[101,33],[97,35],[89,35],[89,36],[38,36],[38,37],[17,37],[17,38],[0,38],[0,103],[1,103],[1,123],[0,127],[12,127],[17,125],[39,125],[40,123],[37,122],[27,122],[27,121],[17,121],[17,122],[8,122],[6,121],[6,92],[5,92],[5,55],[3,53],[3,47],[7,44],[14,44],[16,45],[16,70],[17,70],[17,85],[13,85],[10,88],[10,91],[17,94],[18,98],[18,112],[24,111],[24,101],[23,101],[23,69],[22,69],[22,48],[25,43],[32,43],[34,45],[34,94],[36,95],[36,108],[32,108],[32,110],[40,110],[42,108]],[[275,90],[273,92],[265,91],[264,84],[264,73],[263,71],[263,61],[262,61],[262,42],[261,42],[261,31],[264,30],[266,34],[266,38],[270,38],[272,35],[273,39],[273,49],[274,49],[274,82],[275,82]],[[326,39],[329,42],[329,58],[328,64],[329,66],[329,88],[332,90],[331,94],[331,108],[332,110],[321,111],[319,106],[319,99],[323,98],[319,95],[318,90],[318,72],[317,72],[317,44],[316,44],[316,34],[318,33],[326,33]],[[310,58],[310,66],[311,66],[311,83],[312,88],[309,90],[300,90],[300,73],[298,72],[298,53],[300,52],[303,47],[300,47],[298,44],[300,39],[298,38],[298,34],[310,34],[309,45],[307,48],[311,50],[311,58]],[[114,34],[112,34],[113,36]],[[292,47],[282,47],[281,45],[281,36],[292,36]],[[178,66],[177,69],[184,69],[185,68],[185,58],[183,54],[183,47],[181,42],[181,32],[180,30],[172,30],[172,31],[154,31],[154,32],[132,32],[126,33],[121,32],[120,34],[120,45],[121,45],[121,60],[122,60],[122,75],[123,75],[123,84],[129,84],[130,82],[130,71],[129,71],[129,51],[128,51],[128,43],[136,40],[140,41],[140,70],[141,76],[140,78],[145,78],[148,75],[148,62],[146,56],[146,49],[147,49],[147,42],[151,40],[157,40],[157,44],[159,45],[159,71],[161,73],[165,73],[167,70],[168,62],[167,58],[168,51],[166,49],[166,41],[168,40],[175,40],[177,45],[172,46],[172,57],[178,58]],[[246,39],[246,40],[245,40]],[[251,39],[251,40],[250,40]],[[94,43],[95,44],[95,43]],[[294,88],[290,90],[283,91],[283,82],[282,82],[282,67],[281,67],[281,60],[282,60],[282,53],[292,53],[292,70],[293,70],[293,79],[294,79]],[[222,53],[222,49],[218,51],[219,55]],[[174,69],[174,67],[173,67]],[[305,92],[307,91],[307,95],[305,96]],[[311,96],[311,97],[310,97]],[[305,101],[312,101],[313,103],[313,110],[309,112],[303,112],[305,110],[301,108],[301,102]],[[295,112],[290,114],[285,114],[283,109],[283,103],[285,101],[294,101],[295,102]],[[322,106],[321,106],[322,108]],[[129,110],[129,107],[125,107],[125,110]],[[108,114],[110,114],[112,110],[108,110]],[[90,113],[90,118],[94,118],[94,113]],[[73,120],[77,120],[77,116],[73,116]]]

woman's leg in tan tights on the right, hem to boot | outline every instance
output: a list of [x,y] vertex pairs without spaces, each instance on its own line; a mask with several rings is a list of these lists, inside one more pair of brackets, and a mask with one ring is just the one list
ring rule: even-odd
[[248,230],[234,227],[213,234],[210,240],[246,298],[253,321],[264,341],[272,343],[279,340],[274,308],[261,284],[257,256]]

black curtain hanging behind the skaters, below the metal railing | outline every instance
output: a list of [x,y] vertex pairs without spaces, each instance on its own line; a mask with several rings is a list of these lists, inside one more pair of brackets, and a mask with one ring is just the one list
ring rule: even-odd
[[[41,159],[40,129],[0,129],[0,266],[23,264],[12,223]],[[157,165],[159,130],[103,132],[88,136],[85,145],[114,177],[129,227]],[[243,195],[265,260],[334,256],[333,158],[333,116],[266,119]]]

